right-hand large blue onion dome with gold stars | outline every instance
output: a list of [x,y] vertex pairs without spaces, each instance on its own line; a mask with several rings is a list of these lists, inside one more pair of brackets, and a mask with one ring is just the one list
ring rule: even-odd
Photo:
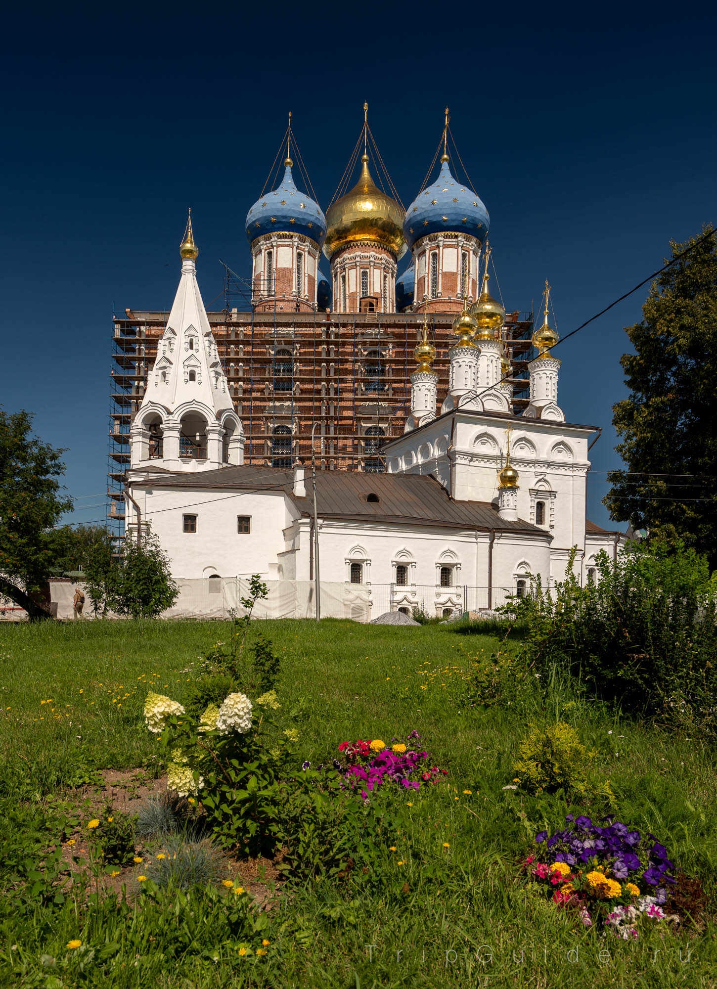
[[470,186],[453,177],[448,161],[448,155],[443,154],[438,178],[406,210],[403,236],[409,250],[429,233],[468,233],[481,243],[488,235],[488,210]]

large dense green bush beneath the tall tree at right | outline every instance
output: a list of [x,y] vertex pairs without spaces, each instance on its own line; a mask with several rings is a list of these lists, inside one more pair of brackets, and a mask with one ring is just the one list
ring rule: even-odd
[[595,583],[573,570],[539,581],[511,609],[527,622],[522,656],[536,672],[566,668],[591,695],[633,714],[717,730],[717,578],[679,544],[630,544],[597,558]]

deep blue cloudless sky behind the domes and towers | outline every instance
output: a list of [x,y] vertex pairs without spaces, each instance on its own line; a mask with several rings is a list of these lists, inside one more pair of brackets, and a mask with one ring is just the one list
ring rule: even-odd
[[[208,308],[292,110],[320,205],[369,123],[408,205],[443,107],[491,214],[508,310],[550,279],[581,323],[717,222],[715,18],[626,9],[413,4],[47,5],[4,21],[0,402],[67,447],[73,520],[104,516],[113,310],[168,309],[192,207]],[[296,171],[296,170],[295,170]],[[492,283],[493,284],[493,283]],[[603,426],[624,396],[623,326],[647,287],[561,347],[559,400]],[[221,307],[222,302],[217,304]]]

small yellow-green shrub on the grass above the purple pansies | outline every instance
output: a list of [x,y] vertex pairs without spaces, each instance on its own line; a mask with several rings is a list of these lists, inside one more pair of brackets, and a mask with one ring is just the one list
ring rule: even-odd
[[559,721],[547,728],[533,727],[520,743],[513,772],[520,787],[535,795],[562,790],[569,800],[612,803],[609,779],[593,768],[596,756],[594,749],[583,746],[575,728]]

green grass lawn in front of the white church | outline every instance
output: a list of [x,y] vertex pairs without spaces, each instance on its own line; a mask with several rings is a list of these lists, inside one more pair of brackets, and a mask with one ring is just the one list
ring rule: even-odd
[[[387,866],[404,878],[403,898],[327,880],[297,886],[272,911],[270,961],[238,960],[217,948],[207,958],[193,955],[174,964],[153,957],[150,948],[137,957],[120,950],[111,974],[97,965],[80,972],[71,960],[62,961],[64,944],[79,935],[44,926],[42,918],[21,922],[6,902],[2,984],[717,984],[709,922],[691,935],[663,941],[652,932],[640,944],[627,944],[577,930],[566,912],[528,898],[516,881],[517,863],[534,848],[535,833],[560,826],[570,808],[557,797],[503,789],[512,783],[511,763],[529,724],[567,721],[597,751],[620,819],[657,835],[712,893],[717,760],[707,740],[622,720],[558,679],[536,680],[514,702],[467,705],[465,674],[477,654],[497,648],[496,639],[475,630],[331,619],[318,627],[287,620],[252,628],[271,638],[282,656],[282,704],[303,702],[304,759],[325,763],[342,741],[389,743],[417,730],[435,764],[448,770],[445,784],[403,800],[412,804],[396,839],[403,865],[394,858]],[[53,797],[91,778],[92,770],[144,766],[159,774],[157,747],[142,720],[147,690],[181,702],[197,675],[200,653],[233,634],[230,624],[220,622],[1,626],[0,837],[30,828],[31,819],[36,827]],[[14,895],[7,883],[4,895],[6,901]],[[122,940],[113,933],[117,922],[110,914],[103,917],[95,927],[85,922],[88,943]],[[212,945],[211,931],[198,937]],[[678,952],[685,958],[688,945],[689,959],[680,961]],[[601,950],[609,960],[604,953],[598,958]],[[43,955],[55,959],[54,967],[46,961],[44,967]]]

